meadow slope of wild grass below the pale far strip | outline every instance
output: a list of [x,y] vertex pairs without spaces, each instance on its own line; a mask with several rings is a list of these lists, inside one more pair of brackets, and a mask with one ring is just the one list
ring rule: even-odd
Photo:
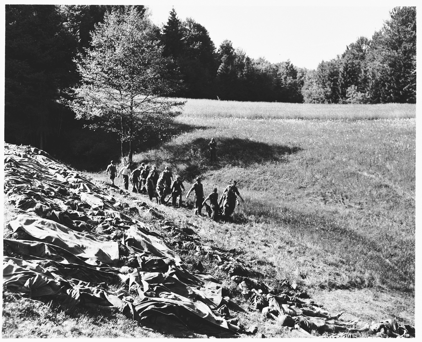
[[[400,107],[387,105],[384,112],[395,106]],[[406,113],[409,107],[402,107]],[[297,271],[303,275],[297,281],[311,287],[380,285],[413,293],[414,118],[249,120],[185,112],[177,121],[197,130],[136,159],[172,164],[173,173],[197,166],[206,193],[214,186],[221,192],[228,181],[238,180],[246,199],[238,208],[238,218],[243,217],[238,235],[247,237],[242,244],[249,251],[261,256],[271,251],[269,260],[283,263],[279,276]],[[207,159],[211,137],[218,144],[215,164]],[[265,225],[259,249],[250,233],[257,224]],[[315,265],[320,265],[317,273]]]

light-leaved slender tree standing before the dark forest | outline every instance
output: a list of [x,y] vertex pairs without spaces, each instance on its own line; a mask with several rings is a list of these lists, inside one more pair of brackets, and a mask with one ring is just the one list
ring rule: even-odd
[[156,27],[135,7],[106,13],[91,44],[79,55],[83,84],[73,108],[93,129],[117,132],[122,156],[132,160],[136,138],[147,133],[151,121],[164,123],[184,104],[168,97],[181,83],[179,74],[162,57]]

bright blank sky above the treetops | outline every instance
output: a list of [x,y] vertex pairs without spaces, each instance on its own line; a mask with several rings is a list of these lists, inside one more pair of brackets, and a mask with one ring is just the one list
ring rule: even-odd
[[265,57],[271,63],[289,59],[308,69],[341,55],[346,45],[360,36],[371,38],[395,7],[373,1],[354,1],[353,6],[316,1],[311,4],[318,6],[286,6],[286,2],[269,0],[203,3],[162,0],[147,5],[152,21],[159,26],[167,22],[174,7],[179,19],[191,17],[203,25],[216,48],[229,39],[234,48],[243,49],[251,58]]

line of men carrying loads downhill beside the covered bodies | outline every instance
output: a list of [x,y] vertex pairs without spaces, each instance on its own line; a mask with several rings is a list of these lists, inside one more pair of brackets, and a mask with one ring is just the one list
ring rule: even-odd
[[[116,166],[113,161],[108,165],[106,173],[110,174],[110,179],[114,186],[114,178],[116,177]],[[149,165],[144,163],[141,164],[140,168],[130,171],[129,164],[124,165],[117,174],[117,177],[122,175],[124,188],[128,190],[129,181],[132,183],[133,192],[140,194],[148,194],[149,200],[153,198],[157,200],[159,204],[167,204],[172,199],[172,205],[176,207],[177,198],[179,198],[179,207],[182,205],[182,194],[184,192],[184,185],[180,175],[177,175],[173,179],[173,174],[170,167],[166,166],[161,174],[158,172],[155,165],[150,169]],[[235,208],[237,197],[243,201],[243,198],[239,194],[239,190],[236,187],[237,182],[233,181],[223,191],[220,200],[218,200],[217,188],[211,192],[206,198],[204,197],[203,186],[201,178],[197,177],[196,182],[186,195],[186,199],[189,197],[191,192],[195,192],[195,215],[202,216],[202,208],[205,206],[208,216],[214,221],[219,219],[219,216],[229,217]],[[171,195],[168,197],[168,195]],[[166,200],[166,198],[168,199]],[[209,200],[210,205],[206,203]]]

